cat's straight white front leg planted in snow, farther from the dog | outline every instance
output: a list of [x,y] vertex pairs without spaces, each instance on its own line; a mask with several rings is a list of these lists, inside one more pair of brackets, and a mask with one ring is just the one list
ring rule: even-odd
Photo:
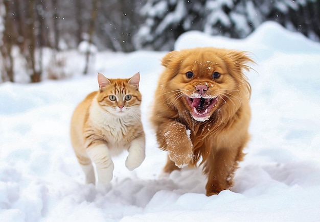
[[87,154],[96,164],[98,183],[109,184],[113,177],[114,166],[107,145],[95,143],[87,147]]

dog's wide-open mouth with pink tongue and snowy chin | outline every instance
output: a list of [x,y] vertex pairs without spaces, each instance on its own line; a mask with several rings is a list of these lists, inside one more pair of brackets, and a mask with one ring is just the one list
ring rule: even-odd
[[217,97],[188,97],[192,117],[197,121],[205,121],[210,118],[212,107],[217,104]]

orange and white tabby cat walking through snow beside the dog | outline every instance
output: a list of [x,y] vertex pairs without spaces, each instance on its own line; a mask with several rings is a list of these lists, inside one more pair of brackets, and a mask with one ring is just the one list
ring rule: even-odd
[[[145,159],[145,133],[141,122],[140,73],[130,79],[108,79],[98,73],[99,90],[76,107],[71,119],[71,143],[85,174],[85,182],[109,184],[114,165],[111,156],[128,151],[129,170]],[[93,162],[93,163],[92,163]]]

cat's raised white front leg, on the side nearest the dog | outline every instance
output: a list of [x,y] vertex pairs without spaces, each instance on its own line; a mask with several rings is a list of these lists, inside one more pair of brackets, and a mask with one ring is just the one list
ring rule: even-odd
[[129,155],[126,159],[126,167],[129,170],[135,169],[144,161],[146,157],[145,147],[146,139],[144,135],[131,141],[128,149]]

